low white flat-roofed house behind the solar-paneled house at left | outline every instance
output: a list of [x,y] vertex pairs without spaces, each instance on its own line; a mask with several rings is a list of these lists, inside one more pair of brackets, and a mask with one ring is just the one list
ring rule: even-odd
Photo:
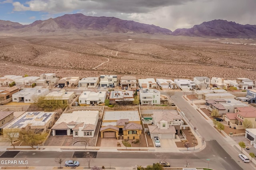
[[38,98],[44,97],[47,94],[49,94],[49,90],[46,88],[24,88],[12,94],[12,102],[35,103]]

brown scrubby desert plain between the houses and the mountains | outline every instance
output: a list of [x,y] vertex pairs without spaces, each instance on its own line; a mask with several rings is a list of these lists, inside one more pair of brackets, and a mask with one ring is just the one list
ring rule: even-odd
[[4,34],[0,35],[0,76],[56,73],[80,78],[115,74],[256,80],[256,46],[252,44],[256,40],[162,34]]

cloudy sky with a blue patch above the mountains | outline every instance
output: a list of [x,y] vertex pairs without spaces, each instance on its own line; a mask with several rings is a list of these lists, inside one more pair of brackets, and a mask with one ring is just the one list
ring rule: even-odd
[[0,0],[0,20],[30,24],[64,14],[116,17],[174,31],[204,21],[256,25],[256,0]]

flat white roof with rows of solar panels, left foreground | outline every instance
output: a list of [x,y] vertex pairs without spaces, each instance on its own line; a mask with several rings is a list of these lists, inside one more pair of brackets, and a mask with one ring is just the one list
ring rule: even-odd
[[[20,117],[15,119],[12,123],[10,123],[5,128],[20,129],[20,128],[26,127],[28,124],[31,124],[30,126],[44,126],[46,122],[48,122],[51,119],[52,115],[54,115],[54,112],[27,111],[23,113]],[[38,119],[42,119],[42,121]]]

